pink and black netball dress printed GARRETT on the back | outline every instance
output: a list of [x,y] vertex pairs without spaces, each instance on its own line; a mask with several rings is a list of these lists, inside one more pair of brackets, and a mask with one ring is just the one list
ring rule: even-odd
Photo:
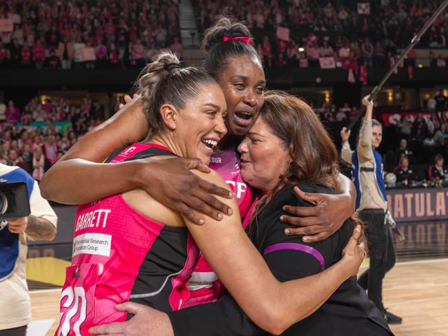
[[[136,143],[110,162],[174,156]],[[124,321],[114,306],[128,300],[161,311],[183,308],[199,251],[185,227],[169,227],[132,209],[121,193],[77,209],[72,266],[61,293],[56,335],[89,335],[96,324]]]

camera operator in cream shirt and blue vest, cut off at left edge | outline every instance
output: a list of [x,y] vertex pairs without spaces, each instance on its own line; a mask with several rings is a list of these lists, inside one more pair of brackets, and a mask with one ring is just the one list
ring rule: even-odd
[[30,216],[0,222],[0,336],[26,335],[31,321],[26,240],[53,240],[57,216],[42,198],[37,182],[23,169],[0,164],[0,179],[26,182],[28,188]]

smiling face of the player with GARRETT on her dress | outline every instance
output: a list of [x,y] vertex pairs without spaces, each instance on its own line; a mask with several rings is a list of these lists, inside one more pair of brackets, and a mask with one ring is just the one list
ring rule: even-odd
[[214,147],[227,133],[224,124],[227,107],[218,85],[201,85],[199,92],[194,99],[187,101],[185,109],[174,115],[172,136],[180,151],[178,154],[198,158],[208,165]]

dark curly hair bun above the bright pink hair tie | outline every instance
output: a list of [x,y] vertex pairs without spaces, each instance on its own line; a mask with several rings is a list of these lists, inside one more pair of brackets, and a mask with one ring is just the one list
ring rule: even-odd
[[252,39],[252,34],[244,23],[232,23],[229,17],[222,17],[215,25],[205,30],[204,38],[202,40],[202,48],[208,52],[214,45],[222,43],[224,36],[242,36]]

